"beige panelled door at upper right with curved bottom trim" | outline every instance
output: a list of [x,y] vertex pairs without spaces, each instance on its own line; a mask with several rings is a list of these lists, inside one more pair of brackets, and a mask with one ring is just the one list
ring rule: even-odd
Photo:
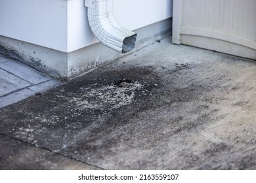
[[256,59],[256,0],[173,0],[173,43]]

